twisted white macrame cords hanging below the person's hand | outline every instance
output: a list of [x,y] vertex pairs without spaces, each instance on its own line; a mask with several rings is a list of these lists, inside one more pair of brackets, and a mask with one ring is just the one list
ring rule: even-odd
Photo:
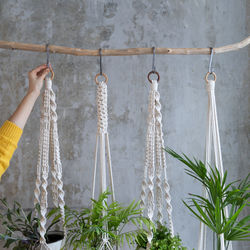
[[[46,214],[47,214],[47,186],[49,175],[49,159],[51,159],[52,175],[52,198],[54,206],[60,208],[61,221],[64,227],[64,191],[62,182],[62,164],[60,159],[60,147],[57,130],[57,113],[55,93],[52,90],[52,80],[45,79],[45,89],[43,102],[41,105],[40,118],[40,138],[39,153],[37,162],[37,179],[35,187],[34,204],[40,204],[40,245],[41,249],[49,249],[46,244]],[[64,238],[66,237],[66,228],[64,227]]]

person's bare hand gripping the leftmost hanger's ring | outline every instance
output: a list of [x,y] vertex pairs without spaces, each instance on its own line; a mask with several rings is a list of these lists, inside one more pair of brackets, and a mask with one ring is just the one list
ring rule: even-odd
[[50,72],[47,64],[40,65],[29,72],[29,90],[28,93],[40,95],[43,87],[43,82],[46,75]]

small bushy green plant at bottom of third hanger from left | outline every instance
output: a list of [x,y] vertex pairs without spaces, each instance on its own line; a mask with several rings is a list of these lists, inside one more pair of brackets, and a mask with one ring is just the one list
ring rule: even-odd
[[[139,232],[135,242],[137,244],[136,250],[147,249],[147,233]],[[179,235],[174,237],[171,236],[171,233],[167,226],[162,225],[160,222],[156,223],[156,228],[153,230],[153,239],[151,242],[152,250],[186,250],[186,247],[182,246],[181,239]]]

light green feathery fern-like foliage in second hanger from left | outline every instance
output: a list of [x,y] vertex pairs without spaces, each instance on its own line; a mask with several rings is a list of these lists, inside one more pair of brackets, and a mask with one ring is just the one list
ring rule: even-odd
[[[138,231],[143,231],[143,225],[152,226],[149,219],[141,216],[139,202],[132,202],[122,207],[117,202],[107,203],[109,192],[102,193],[98,200],[92,200],[92,208],[83,208],[80,211],[66,208],[65,224],[67,239],[64,248],[98,249],[102,236],[106,233],[112,246],[122,246],[124,241],[134,244]],[[125,231],[128,224],[136,229]]]

